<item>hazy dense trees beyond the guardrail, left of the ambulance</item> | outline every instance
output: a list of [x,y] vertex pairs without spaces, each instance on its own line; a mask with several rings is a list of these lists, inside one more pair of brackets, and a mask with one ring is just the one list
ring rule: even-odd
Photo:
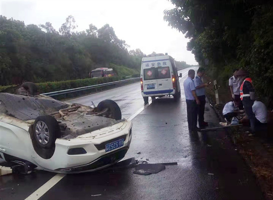
[[75,28],[73,16],[56,31],[50,22],[25,25],[0,15],[0,85],[84,79],[98,67],[114,66],[119,76],[139,73],[145,55],[140,49],[128,52],[109,24]]

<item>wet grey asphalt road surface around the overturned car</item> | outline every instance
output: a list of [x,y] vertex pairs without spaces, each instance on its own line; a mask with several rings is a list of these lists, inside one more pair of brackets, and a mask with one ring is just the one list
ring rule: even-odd
[[[186,78],[180,81],[181,89]],[[104,99],[117,101],[125,118],[144,105],[140,84],[71,101],[88,104],[90,99],[95,104]],[[211,127],[219,123],[209,103],[205,120]],[[132,122],[133,139],[125,159],[178,165],[148,176],[133,174],[133,168],[66,175],[40,199],[263,199],[254,175],[225,131],[189,134],[183,90],[179,102],[159,98]],[[0,199],[25,199],[54,175],[39,171],[0,177]]]

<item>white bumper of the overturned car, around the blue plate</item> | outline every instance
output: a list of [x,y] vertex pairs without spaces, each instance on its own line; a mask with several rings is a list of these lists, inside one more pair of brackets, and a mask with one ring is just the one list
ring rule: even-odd
[[[56,139],[53,156],[50,159],[36,157],[34,164],[38,169],[57,173],[80,173],[105,168],[125,156],[132,139],[131,129],[132,123],[124,121],[73,139]],[[124,139],[123,146],[105,152],[105,144],[119,139]],[[85,153],[69,155],[68,151],[75,148],[84,149]]]

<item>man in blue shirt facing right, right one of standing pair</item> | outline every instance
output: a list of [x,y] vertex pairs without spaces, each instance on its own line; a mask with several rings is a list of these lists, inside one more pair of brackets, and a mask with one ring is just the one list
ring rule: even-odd
[[202,128],[204,126],[208,126],[208,122],[204,121],[204,112],[205,112],[205,104],[206,104],[206,90],[205,87],[207,87],[209,84],[203,83],[202,77],[205,74],[205,69],[200,67],[197,70],[197,75],[194,79],[194,85],[196,88],[196,95],[198,99],[200,100],[200,105],[198,109],[198,123],[199,128]]

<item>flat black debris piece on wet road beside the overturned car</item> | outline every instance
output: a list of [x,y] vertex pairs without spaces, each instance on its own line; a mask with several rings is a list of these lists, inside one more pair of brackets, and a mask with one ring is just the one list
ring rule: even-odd
[[133,173],[140,175],[156,174],[165,170],[165,168],[166,167],[163,164],[139,164]]

